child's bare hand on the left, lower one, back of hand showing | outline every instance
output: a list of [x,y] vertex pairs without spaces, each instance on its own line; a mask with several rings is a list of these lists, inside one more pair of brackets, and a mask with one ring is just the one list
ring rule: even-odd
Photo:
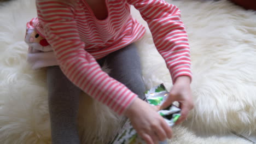
[[171,128],[156,111],[156,107],[139,98],[136,98],[125,111],[125,116],[130,119],[133,128],[148,144],[172,137]]

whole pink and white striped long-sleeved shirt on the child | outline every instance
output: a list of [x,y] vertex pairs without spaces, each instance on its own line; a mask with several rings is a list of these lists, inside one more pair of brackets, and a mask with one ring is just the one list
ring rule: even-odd
[[34,27],[53,47],[63,73],[92,98],[122,114],[137,97],[96,62],[143,37],[146,29],[131,17],[130,5],[147,21],[173,81],[181,75],[191,77],[188,37],[176,6],[164,0],[106,0],[108,16],[98,20],[85,0],[75,2],[74,7],[37,0]]

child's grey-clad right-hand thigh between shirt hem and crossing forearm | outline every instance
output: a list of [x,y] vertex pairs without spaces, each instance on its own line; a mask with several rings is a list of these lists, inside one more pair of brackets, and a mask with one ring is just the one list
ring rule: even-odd
[[106,57],[106,62],[110,68],[109,76],[123,83],[132,92],[138,94],[139,98],[145,99],[146,88],[142,80],[141,63],[135,44],[110,53]]

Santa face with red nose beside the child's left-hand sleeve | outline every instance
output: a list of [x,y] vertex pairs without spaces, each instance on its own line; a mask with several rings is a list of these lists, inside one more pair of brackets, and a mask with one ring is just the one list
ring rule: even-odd
[[25,41],[28,44],[29,53],[53,51],[47,40],[33,28],[26,30]]

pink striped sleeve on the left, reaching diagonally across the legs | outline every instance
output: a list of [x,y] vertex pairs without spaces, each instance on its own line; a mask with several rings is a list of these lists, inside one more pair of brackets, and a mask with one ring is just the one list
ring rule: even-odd
[[123,114],[137,95],[104,73],[95,58],[84,50],[72,9],[61,1],[37,0],[37,13],[45,38],[67,78],[92,98]]

